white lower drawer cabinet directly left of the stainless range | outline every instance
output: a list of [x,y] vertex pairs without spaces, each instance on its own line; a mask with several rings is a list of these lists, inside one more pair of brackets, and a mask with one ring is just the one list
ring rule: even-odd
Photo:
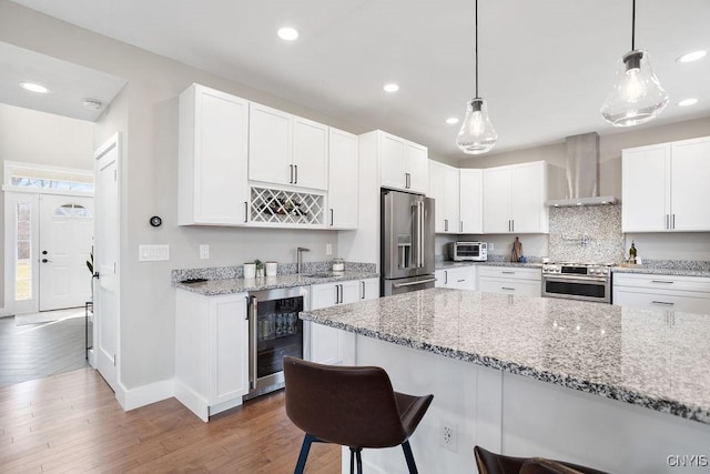
[[478,290],[489,293],[540,296],[542,294],[542,270],[515,266],[480,266]]

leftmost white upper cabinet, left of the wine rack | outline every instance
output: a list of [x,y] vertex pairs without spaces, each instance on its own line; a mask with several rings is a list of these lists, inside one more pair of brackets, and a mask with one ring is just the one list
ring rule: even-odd
[[245,224],[248,101],[192,84],[179,102],[179,224]]

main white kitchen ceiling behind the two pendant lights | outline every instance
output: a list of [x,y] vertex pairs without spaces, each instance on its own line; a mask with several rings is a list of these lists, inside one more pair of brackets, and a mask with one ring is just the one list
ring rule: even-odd
[[[474,0],[14,0],[272,94],[469,158],[454,144],[474,88]],[[599,113],[631,49],[631,0],[480,0],[479,92],[494,152],[613,129]],[[275,32],[300,30],[292,43]],[[710,115],[710,0],[638,0],[636,46],[671,103],[641,127]],[[387,94],[386,82],[400,90]],[[680,108],[689,97],[698,104]]]

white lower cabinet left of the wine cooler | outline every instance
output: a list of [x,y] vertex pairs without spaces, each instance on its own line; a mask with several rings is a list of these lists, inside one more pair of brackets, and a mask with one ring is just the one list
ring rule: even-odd
[[206,422],[248,392],[246,294],[175,297],[175,397]]

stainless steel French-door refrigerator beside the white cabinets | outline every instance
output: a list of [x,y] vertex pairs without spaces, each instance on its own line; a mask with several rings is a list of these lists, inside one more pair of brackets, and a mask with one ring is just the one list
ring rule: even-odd
[[434,200],[382,190],[381,295],[434,288]]

